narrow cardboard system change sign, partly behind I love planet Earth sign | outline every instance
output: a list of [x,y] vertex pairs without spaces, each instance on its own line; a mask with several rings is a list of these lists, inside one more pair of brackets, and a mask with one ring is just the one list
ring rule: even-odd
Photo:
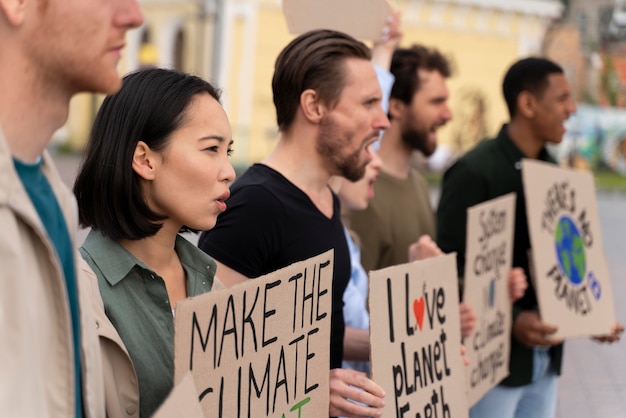
[[508,274],[513,259],[515,193],[467,210],[463,300],[476,314],[465,339],[467,398],[475,404],[509,374],[511,298]]

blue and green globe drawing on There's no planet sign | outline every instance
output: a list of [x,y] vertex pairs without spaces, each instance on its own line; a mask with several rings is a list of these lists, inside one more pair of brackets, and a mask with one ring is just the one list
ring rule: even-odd
[[582,283],[587,267],[585,243],[576,224],[568,216],[559,219],[554,232],[554,241],[561,271],[572,284]]

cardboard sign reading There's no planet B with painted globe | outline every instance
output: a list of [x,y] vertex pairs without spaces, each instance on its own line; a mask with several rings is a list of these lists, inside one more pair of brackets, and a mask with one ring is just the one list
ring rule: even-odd
[[522,161],[534,284],[555,337],[609,334],[616,323],[591,173]]

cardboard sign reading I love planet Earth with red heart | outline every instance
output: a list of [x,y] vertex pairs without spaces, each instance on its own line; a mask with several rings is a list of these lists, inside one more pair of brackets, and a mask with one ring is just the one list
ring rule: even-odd
[[369,294],[382,416],[467,417],[456,254],[371,271]]

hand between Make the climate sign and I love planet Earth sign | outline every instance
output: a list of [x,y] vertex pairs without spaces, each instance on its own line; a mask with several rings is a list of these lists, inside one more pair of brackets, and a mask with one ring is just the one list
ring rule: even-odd
[[[385,406],[385,392],[364,373],[349,369],[330,371],[329,416],[379,417]],[[358,405],[354,402],[368,405]]]

